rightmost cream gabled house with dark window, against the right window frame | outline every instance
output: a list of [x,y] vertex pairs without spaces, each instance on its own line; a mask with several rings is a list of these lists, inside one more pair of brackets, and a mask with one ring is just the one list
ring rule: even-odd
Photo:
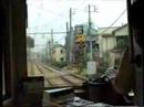
[[116,45],[113,50],[109,51],[109,66],[120,66],[122,54],[128,45],[128,25],[127,23],[115,29],[113,35],[116,40]]

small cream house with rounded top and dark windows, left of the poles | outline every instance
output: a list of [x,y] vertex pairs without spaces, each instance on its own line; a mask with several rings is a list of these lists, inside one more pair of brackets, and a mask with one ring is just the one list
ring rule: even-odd
[[55,44],[52,49],[52,61],[65,62],[65,47],[61,44]]

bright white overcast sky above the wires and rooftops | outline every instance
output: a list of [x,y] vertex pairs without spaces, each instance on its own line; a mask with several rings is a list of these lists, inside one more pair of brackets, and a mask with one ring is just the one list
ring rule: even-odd
[[[65,32],[66,22],[70,21],[70,8],[72,8],[72,26],[74,26],[88,22],[90,4],[91,20],[95,29],[110,26],[126,10],[126,0],[27,0],[27,4],[28,33],[51,32],[52,29],[53,32]],[[120,26],[126,22],[125,11],[113,25]],[[50,34],[30,36],[34,38],[35,45],[44,45],[50,40]],[[65,34],[53,34],[54,41],[61,44],[64,44],[64,38]]]

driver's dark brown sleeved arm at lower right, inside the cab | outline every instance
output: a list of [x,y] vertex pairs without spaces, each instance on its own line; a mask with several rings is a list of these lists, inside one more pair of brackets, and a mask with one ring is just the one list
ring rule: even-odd
[[134,87],[134,66],[131,63],[128,50],[124,52],[120,71],[112,81],[115,90],[120,94],[127,94]]

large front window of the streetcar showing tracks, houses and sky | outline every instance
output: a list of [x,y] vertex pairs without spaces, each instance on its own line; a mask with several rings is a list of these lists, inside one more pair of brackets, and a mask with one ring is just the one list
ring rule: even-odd
[[29,76],[81,86],[120,67],[128,44],[126,0],[27,0]]

